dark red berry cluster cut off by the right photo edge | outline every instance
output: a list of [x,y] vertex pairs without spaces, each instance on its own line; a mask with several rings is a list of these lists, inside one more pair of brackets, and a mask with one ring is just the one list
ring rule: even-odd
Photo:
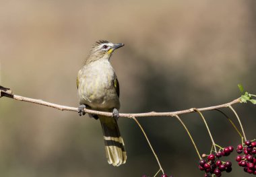
[[245,155],[237,155],[236,162],[244,168],[244,171],[249,174],[256,174],[256,141],[245,141],[245,145],[238,145],[237,153],[244,153]]

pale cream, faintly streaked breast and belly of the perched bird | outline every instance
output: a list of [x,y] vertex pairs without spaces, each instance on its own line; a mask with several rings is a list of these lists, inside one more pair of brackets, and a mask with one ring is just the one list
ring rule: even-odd
[[94,61],[79,71],[78,95],[80,104],[92,108],[119,108],[115,91],[115,71],[108,61]]

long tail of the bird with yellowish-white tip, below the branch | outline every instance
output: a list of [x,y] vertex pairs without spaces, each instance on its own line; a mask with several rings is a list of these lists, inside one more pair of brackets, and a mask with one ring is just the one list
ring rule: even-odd
[[112,117],[99,116],[105,142],[106,159],[108,164],[120,166],[125,164],[127,155],[125,144],[120,135],[117,120]]

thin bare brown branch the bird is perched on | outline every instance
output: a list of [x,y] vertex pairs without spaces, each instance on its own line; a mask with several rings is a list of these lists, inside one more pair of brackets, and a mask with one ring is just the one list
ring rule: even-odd
[[[38,99],[33,99],[33,98],[27,98],[24,96],[18,96],[13,94],[11,90],[7,87],[2,87],[0,85],[0,98],[1,97],[7,97],[7,98],[12,98],[14,100],[19,100],[23,102],[31,102],[34,104],[40,104],[43,106],[49,106],[51,108],[56,108],[58,110],[69,110],[69,111],[75,111],[77,112],[78,109],[75,107],[70,107],[70,106],[63,106],[60,104],[54,104],[51,102],[45,102],[44,100],[38,100]],[[232,102],[228,102],[226,104],[220,104],[217,106],[210,106],[210,107],[205,107],[205,108],[197,108],[199,111],[204,111],[204,110],[215,110],[218,108],[226,108],[229,107],[232,104],[240,103],[241,98],[237,98],[236,100],[233,100]],[[97,111],[97,110],[90,110],[90,109],[84,109],[86,113],[89,114],[98,114],[102,116],[113,116],[112,112],[102,112],[102,111]],[[174,112],[144,112],[144,113],[135,113],[135,114],[130,114],[130,113],[119,113],[119,116],[121,117],[127,117],[127,118],[133,118],[133,117],[145,117],[145,116],[177,116],[179,114],[187,114],[190,112],[195,112],[195,108],[190,108],[187,110],[179,110],[179,111],[174,111]]]

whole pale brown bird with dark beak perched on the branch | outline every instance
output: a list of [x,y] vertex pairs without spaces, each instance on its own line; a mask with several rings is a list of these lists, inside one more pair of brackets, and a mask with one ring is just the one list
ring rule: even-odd
[[112,117],[89,114],[100,120],[108,164],[120,166],[125,164],[127,153],[121,137],[117,120],[119,118],[119,81],[110,57],[113,52],[124,46],[123,43],[112,43],[98,40],[90,50],[84,66],[77,73],[77,90],[79,107],[77,112],[84,115],[84,108],[113,112]]

